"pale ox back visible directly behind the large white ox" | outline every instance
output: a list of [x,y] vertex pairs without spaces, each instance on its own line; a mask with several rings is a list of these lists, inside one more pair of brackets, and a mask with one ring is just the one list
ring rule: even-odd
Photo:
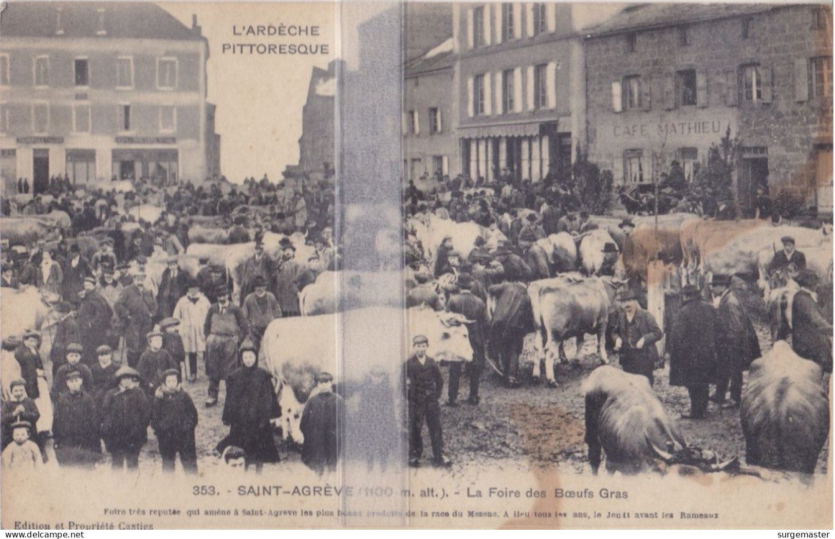
[[299,309],[302,316],[314,316],[374,306],[399,307],[405,293],[399,271],[323,271],[299,293]]

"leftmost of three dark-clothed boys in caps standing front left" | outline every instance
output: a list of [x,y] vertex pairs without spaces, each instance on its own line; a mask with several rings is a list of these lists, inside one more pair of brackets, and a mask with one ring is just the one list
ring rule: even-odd
[[65,380],[68,390],[55,403],[55,456],[61,466],[92,469],[102,451],[93,396],[84,390],[80,370],[69,370]]

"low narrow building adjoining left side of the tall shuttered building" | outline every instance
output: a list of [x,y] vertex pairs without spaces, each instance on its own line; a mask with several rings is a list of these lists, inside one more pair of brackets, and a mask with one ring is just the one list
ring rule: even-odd
[[407,63],[403,74],[403,170],[405,179],[448,175],[455,158],[453,39]]

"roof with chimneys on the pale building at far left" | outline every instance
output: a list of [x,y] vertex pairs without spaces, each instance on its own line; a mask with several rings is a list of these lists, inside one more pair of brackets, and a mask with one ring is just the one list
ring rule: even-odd
[[[61,29],[58,30],[58,9]],[[104,30],[99,35],[99,10]],[[199,32],[163,8],[146,2],[10,2],[3,11],[3,38],[114,38],[199,41]]]

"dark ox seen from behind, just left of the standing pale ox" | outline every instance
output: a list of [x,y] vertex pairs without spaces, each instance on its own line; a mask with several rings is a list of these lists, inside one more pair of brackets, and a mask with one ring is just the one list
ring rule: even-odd
[[504,382],[511,388],[519,382],[519,355],[524,337],[534,330],[534,311],[528,290],[520,283],[502,283],[488,289],[495,309],[488,340],[489,356],[497,359],[504,371]]

